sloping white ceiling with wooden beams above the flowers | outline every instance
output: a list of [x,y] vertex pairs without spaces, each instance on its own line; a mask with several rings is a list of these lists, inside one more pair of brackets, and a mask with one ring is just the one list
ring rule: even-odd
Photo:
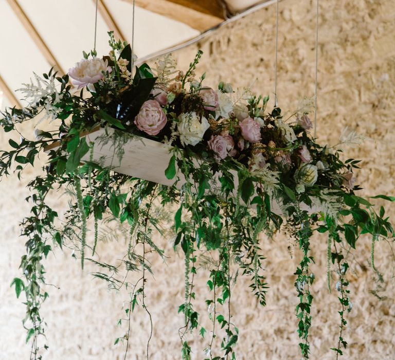
[[[183,43],[215,27],[256,0],[135,0],[138,57]],[[15,90],[34,71],[60,73],[93,48],[96,0],[0,1],[0,109],[21,106]],[[98,54],[109,51],[107,31],[132,40],[133,0],[98,0]]]

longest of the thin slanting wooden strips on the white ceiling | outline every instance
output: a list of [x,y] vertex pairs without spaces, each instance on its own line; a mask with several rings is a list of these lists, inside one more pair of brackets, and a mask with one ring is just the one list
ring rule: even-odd
[[43,54],[44,58],[47,60],[50,66],[54,66],[56,70],[59,71],[61,75],[64,74],[64,71],[58,61],[56,60],[55,56],[53,56],[51,50],[48,48],[46,43],[44,42],[43,38],[37,31],[37,29],[31,23],[29,17],[23,11],[22,7],[19,5],[17,0],[7,0],[9,6],[18,17],[19,21],[22,23],[26,31],[29,33],[31,39],[34,41],[35,45],[40,49],[41,53]]

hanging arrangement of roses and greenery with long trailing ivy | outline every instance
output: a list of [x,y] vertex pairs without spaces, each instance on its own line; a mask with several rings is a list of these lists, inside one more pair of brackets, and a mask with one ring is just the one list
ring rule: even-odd
[[[29,183],[31,214],[21,223],[26,254],[21,277],[12,281],[16,296],[26,296],[24,327],[27,341],[32,341],[31,357],[42,358],[39,338],[45,329],[40,308],[48,296],[45,275],[51,271],[44,268],[43,260],[55,247],[74,244],[82,268],[85,262],[93,262],[98,266],[94,276],[113,288],[127,287],[130,303],[125,321],[129,326],[123,337],[115,339],[125,343],[125,357],[131,314],[137,307],[147,311],[152,335],[145,299],[149,257],[164,256],[152,231],[160,229],[165,218],[155,204],[167,211],[174,209],[174,247],[181,247],[185,254],[185,300],[179,304],[185,317],[185,326],[179,330],[183,359],[192,356],[188,339],[193,331],[205,338],[207,346],[202,350],[207,359],[236,358],[239,330],[230,311],[235,269],[248,279],[252,293],[264,306],[270,284],[265,282],[260,246],[276,231],[286,231],[302,254],[294,276],[299,299],[295,328],[303,358],[310,354],[313,233],[321,233],[320,241],[327,242],[328,287],[336,291],[339,307],[334,312],[340,317],[340,333],[332,350],[336,358],[342,355],[347,345],[343,338],[346,313],[352,308],[345,249],[355,248],[360,235],[368,233],[371,266],[379,274],[374,266],[374,244],[394,236],[384,208],[376,211],[370,200],[356,194],[360,187],[353,171],[359,161],[343,161],[337,148],[319,145],[310,134],[312,122],[306,109],[285,118],[279,107],[267,111],[268,97],[247,90],[235,92],[223,82],[218,89],[205,86],[205,75],[195,75],[201,51],[185,73],[176,70],[171,56],[158,60],[152,69],[147,64],[134,69],[131,47],[116,42],[112,33],[109,43],[109,56],[84,53],[68,75],[58,77],[51,70],[43,78],[35,76],[35,82],[22,89],[28,106],[2,114],[6,132],[19,133],[21,123],[39,114],[57,126],[55,131],[36,128],[35,140],[22,136],[17,143],[10,139],[11,150],[0,153],[0,174],[13,171],[18,177],[44,151],[48,155],[42,173]],[[69,80],[81,91],[76,92]],[[102,135],[88,141],[87,134],[98,129]],[[169,162],[159,175],[173,185],[120,173],[97,160],[103,144],[110,143],[110,155],[121,162],[131,139],[163,144]],[[344,142],[359,140],[355,133],[343,134]],[[62,222],[56,209],[46,203],[48,194],[59,191],[71,194]],[[385,195],[372,198],[395,200]],[[125,256],[116,266],[97,260],[99,228],[109,216],[129,231]],[[94,238],[87,242],[90,219]],[[200,325],[201,315],[194,310],[194,278],[198,269],[203,271],[197,263],[207,252],[211,253],[206,300],[211,329]],[[128,274],[140,272],[137,283],[117,278],[121,267]]]

